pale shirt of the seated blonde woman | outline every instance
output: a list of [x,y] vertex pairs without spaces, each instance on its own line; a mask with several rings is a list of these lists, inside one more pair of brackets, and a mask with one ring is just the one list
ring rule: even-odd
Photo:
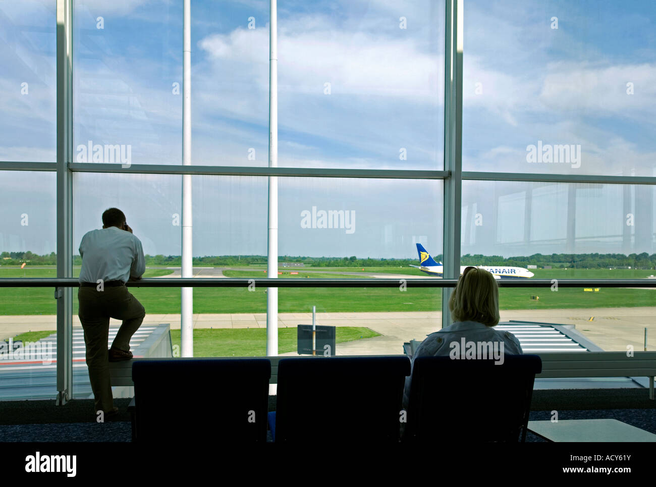
[[[412,369],[415,367],[415,358],[422,356],[436,357],[436,356],[449,356],[451,350],[456,350],[455,346],[451,343],[456,342],[459,344],[458,349],[461,349],[461,339],[473,342],[492,342],[503,343],[503,353],[510,355],[523,354],[522,345],[520,341],[510,333],[510,331],[497,331],[487,325],[478,322],[455,322],[451,326],[442,328],[440,331],[431,333],[415,350],[415,355],[412,357]],[[478,349],[478,347],[476,347]],[[497,350],[501,351],[501,347],[497,346]],[[464,354],[464,350],[462,351]],[[480,358],[480,357],[477,357]],[[492,357],[489,357],[492,358]],[[405,378],[405,389],[403,390],[403,408],[407,409],[408,400],[410,396],[410,384],[412,373]]]

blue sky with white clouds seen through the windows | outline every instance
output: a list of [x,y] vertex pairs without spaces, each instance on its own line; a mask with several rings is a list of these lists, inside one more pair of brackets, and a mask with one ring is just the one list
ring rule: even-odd
[[[181,163],[182,2],[73,5],[75,161]],[[443,169],[443,10],[280,1],[278,165]],[[54,15],[0,0],[0,161],[55,161]],[[464,19],[464,171],[655,175],[656,4],[465,0]],[[268,165],[268,26],[268,1],[192,1],[193,164]],[[180,255],[180,176],[73,184],[75,249],[115,206],[144,252]],[[54,191],[0,162],[0,251],[55,250]],[[266,255],[266,178],[195,176],[192,195],[194,255]],[[654,204],[652,186],[464,181],[462,253],[653,253]],[[441,180],[279,178],[279,255],[439,254],[442,215]]]

